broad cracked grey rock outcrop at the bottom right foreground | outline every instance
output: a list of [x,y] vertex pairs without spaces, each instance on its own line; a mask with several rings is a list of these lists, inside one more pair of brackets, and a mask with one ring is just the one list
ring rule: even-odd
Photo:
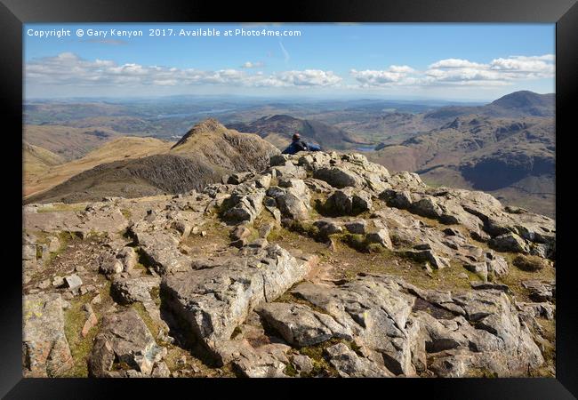
[[[347,326],[396,375],[427,367],[448,377],[479,369],[518,376],[543,362],[503,292],[422,291],[393,276],[362,276],[335,287],[300,284],[293,292]],[[432,308],[440,311],[422,311]]]

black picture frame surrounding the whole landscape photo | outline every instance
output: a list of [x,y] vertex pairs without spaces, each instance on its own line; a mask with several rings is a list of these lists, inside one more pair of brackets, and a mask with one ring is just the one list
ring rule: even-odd
[[[153,0],[0,0],[0,101],[4,124],[5,149],[2,156],[5,200],[4,260],[0,286],[0,396],[5,398],[101,398],[114,396],[118,390],[141,390],[161,396],[219,396],[222,388],[247,385],[247,394],[257,389],[237,380],[89,380],[26,379],[21,376],[21,270],[19,250],[22,221],[20,196],[22,126],[22,24],[31,22],[549,22],[556,23],[556,127],[557,127],[557,378],[556,379],[404,379],[372,380],[284,380],[301,396],[312,384],[342,391],[353,387],[361,396],[407,396],[421,390],[434,398],[575,398],[578,396],[576,351],[577,311],[571,216],[572,151],[575,133],[574,110],[578,95],[578,4],[576,0],[348,0],[291,2],[209,2]],[[12,125],[12,129],[8,126]],[[4,156],[5,155],[5,156]],[[567,163],[568,167],[564,165]],[[18,194],[18,195],[17,195]],[[8,196],[9,195],[9,196]],[[8,198],[11,198],[8,202]],[[13,200],[12,200],[13,198]],[[567,212],[567,213],[566,213]],[[8,220],[10,220],[8,222]],[[318,383],[317,383],[318,382]],[[262,393],[279,396],[279,381],[261,380],[269,387]],[[186,386],[187,388],[181,388]],[[179,387],[179,388],[177,388]],[[324,388],[324,389],[325,389]],[[270,389],[270,391],[269,391]],[[257,389],[261,391],[260,389]],[[370,392],[371,390],[371,392]],[[377,392],[375,391],[377,390]],[[194,392],[193,392],[194,391]],[[235,395],[237,396],[237,395]],[[238,396],[241,396],[240,394]],[[324,395],[328,396],[328,395]],[[358,396],[358,395],[357,395]],[[373,395],[374,396],[374,395]]]

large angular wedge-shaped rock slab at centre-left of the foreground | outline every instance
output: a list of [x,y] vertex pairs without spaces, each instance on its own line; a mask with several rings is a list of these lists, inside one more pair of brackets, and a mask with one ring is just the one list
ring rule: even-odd
[[253,308],[277,299],[306,276],[311,262],[270,244],[217,260],[213,268],[166,276],[161,292],[187,329],[214,351]]

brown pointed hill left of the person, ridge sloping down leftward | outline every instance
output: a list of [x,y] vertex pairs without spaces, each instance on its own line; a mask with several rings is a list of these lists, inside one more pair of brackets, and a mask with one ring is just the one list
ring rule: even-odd
[[100,164],[25,203],[76,203],[105,196],[184,193],[220,181],[231,172],[259,172],[277,148],[258,135],[225,128],[214,119],[195,125],[172,148],[158,154]]

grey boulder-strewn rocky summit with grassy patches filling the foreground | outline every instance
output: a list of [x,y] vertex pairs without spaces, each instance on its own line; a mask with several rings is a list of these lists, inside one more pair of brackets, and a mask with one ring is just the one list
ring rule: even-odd
[[556,227],[359,154],[24,206],[27,376],[555,376]]

